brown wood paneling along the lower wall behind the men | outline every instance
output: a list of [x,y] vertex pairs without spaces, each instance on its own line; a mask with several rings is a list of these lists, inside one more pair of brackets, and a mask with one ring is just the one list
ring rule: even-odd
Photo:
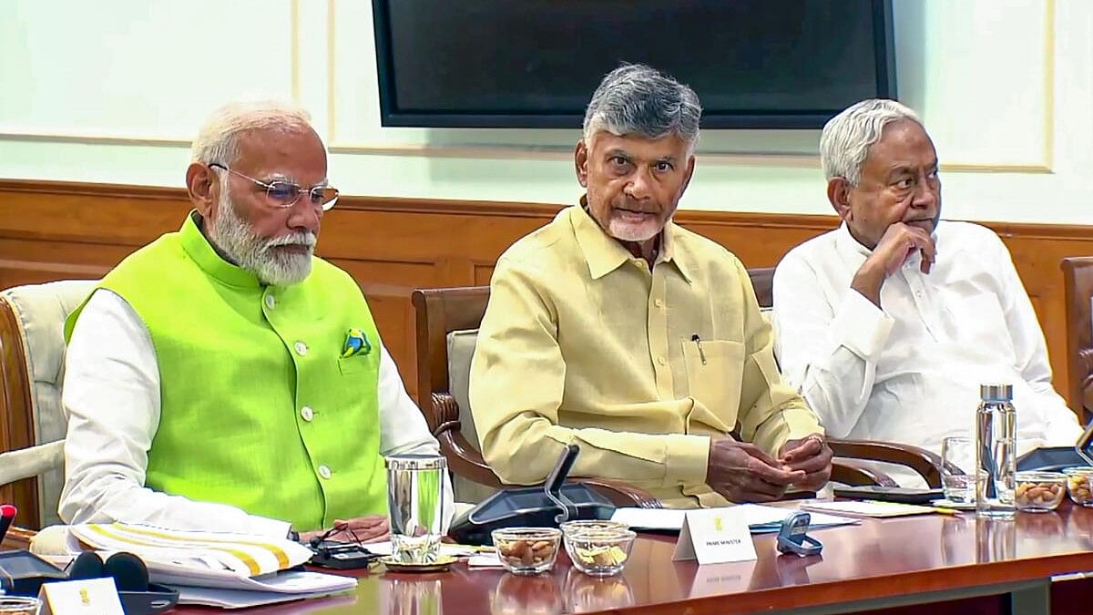
[[[484,285],[501,253],[560,206],[342,197],[325,218],[318,254],[361,283],[384,343],[416,397],[414,288]],[[181,188],[0,181],[0,288],[93,278],[160,234],[189,202]],[[747,266],[777,264],[835,228],[833,216],[681,211],[677,220]],[[1065,256],[1093,254],[1093,227],[987,223],[1009,245],[1047,337],[1056,388],[1067,391]]]

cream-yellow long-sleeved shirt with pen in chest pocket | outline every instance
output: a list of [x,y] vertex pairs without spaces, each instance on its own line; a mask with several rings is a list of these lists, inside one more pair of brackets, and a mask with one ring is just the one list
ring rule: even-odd
[[[580,207],[501,256],[471,364],[482,454],[502,480],[624,480],[666,506],[721,506],[704,481],[709,436],[740,427],[776,453],[822,433],[784,384],[743,265],[674,223],[648,264]],[[697,336],[700,341],[694,341]]]

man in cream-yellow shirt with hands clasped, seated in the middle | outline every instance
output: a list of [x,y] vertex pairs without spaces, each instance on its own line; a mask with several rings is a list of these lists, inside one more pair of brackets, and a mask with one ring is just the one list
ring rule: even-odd
[[502,480],[543,480],[571,442],[573,475],[671,507],[773,500],[830,476],[743,265],[671,222],[701,113],[690,88],[648,67],[612,71],[575,152],[581,205],[497,262],[470,401]]

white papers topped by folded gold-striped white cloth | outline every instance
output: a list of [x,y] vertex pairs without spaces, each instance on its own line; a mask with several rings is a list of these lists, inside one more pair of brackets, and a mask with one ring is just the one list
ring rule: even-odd
[[[69,536],[70,548],[136,554],[148,565],[152,582],[178,587],[181,601],[190,604],[223,606],[235,593],[196,592],[192,588],[266,592],[291,600],[356,587],[351,577],[289,570],[310,559],[312,550],[286,538],[124,523],[72,525]],[[208,600],[200,601],[202,596]],[[258,596],[248,600],[255,599]]]

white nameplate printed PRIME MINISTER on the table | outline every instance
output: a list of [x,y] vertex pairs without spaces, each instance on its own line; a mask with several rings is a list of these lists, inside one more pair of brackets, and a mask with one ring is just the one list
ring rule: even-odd
[[748,522],[730,507],[686,511],[672,559],[697,559],[702,565],[747,561],[757,556]]

